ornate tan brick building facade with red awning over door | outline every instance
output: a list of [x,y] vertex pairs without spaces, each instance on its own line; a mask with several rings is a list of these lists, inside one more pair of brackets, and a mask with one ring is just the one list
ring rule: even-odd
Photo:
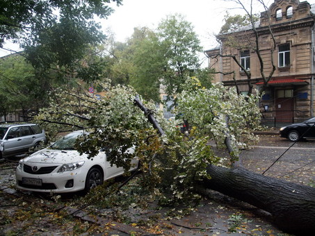
[[[218,35],[221,46],[205,51],[209,67],[222,72],[215,82],[237,84],[243,94],[249,84],[263,89],[263,119],[291,123],[314,117],[314,8],[307,1],[275,0],[254,28]],[[264,83],[262,73],[268,77],[272,71]]]

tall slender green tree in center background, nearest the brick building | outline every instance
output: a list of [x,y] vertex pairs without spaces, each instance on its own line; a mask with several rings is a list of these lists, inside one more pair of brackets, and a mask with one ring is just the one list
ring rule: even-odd
[[169,96],[181,92],[189,76],[200,68],[197,53],[202,51],[193,26],[182,15],[169,15],[158,28],[161,51],[165,57],[163,84]]

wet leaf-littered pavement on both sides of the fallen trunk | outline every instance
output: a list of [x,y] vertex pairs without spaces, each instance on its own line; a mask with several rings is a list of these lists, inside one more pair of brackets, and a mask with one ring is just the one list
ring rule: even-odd
[[[260,141],[250,149],[241,152],[243,165],[251,171],[262,174],[266,171],[266,176],[281,178],[304,185],[315,183],[315,140],[298,142],[292,146],[292,142],[279,135],[259,135]],[[227,155],[226,151],[216,151],[220,155]],[[6,165],[0,163],[0,188],[1,188],[1,222],[5,221],[8,215],[18,212],[17,202],[13,202],[8,192],[15,185],[14,169],[18,158],[7,162]],[[277,160],[277,161],[276,161]],[[270,167],[273,165],[272,167]],[[23,198],[23,197],[22,197]],[[26,199],[35,199],[35,195],[28,195]],[[40,200],[42,201],[42,200]],[[42,201],[45,204],[45,201]],[[130,229],[140,229],[139,222],[152,221],[152,227],[143,229],[138,235],[280,235],[283,232],[271,223],[268,212],[259,210],[247,203],[236,201],[235,199],[209,191],[209,197],[197,205],[191,214],[184,217],[165,217],[165,212],[170,209],[156,208],[152,203],[146,210],[136,210],[130,208],[121,214],[130,218]],[[104,219],[111,222],[111,230],[106,231],[108,235],[130,235],[123,232],[121,224],[114,224],[111,219]],[[40,225],[33,221],[29,222],[31,230],[24,230],[24,235],[76,235],[74,226],[60,228],[58,225]],[[14,227],[22,224],[19,221],[1,224],[0,235],[14,232]],[[28,224],[25,220],[23,225]],[[103,227],[102,224],[99,227]],[[104,226],[105,227],[105,226]],[[108,227],[108,225],[106,225]],[[116,228],[115,228],[116,227]],[[120,228],[121,227],[121,228]],[[127,228],[128,228],[127,227]],[[80,234],[79,234],[80,235]],[[81,235],[88,235],[81,234]],[[105,233],[93,233],[92,235],[106,235]]]

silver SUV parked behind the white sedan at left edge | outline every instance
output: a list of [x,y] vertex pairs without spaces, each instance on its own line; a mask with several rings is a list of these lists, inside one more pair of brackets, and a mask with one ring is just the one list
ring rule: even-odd
[[37,124],[0,124],[0,159],[25,153],[40,142],[47,139]]

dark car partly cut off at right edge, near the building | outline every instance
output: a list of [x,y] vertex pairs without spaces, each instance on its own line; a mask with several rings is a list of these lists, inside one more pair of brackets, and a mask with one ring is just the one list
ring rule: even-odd
[[315,117],[302,123],[290,124],[280,128],[280,135],[292,142],[296,142],[300,138],[315,138]]

